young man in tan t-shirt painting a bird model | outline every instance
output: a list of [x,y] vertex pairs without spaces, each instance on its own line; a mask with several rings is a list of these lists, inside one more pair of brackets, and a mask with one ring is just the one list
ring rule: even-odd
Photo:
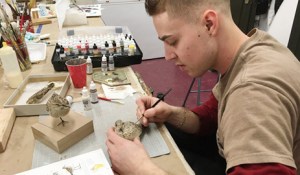
[[[193,110],[137,100],[142,124],[167,122],[191,134],[217,132],[229,175],[297,174],[300,168],[300,64],[268,34],[243,34],[229,0],[146,0],[166,60],[192,77],[217,70],[220,82],[204,105]],[[108,131],[112,167],[120,174],[165,174],[133,142]],[[131,158],[135,157],[134,160]],[[298,175],[300,172],[298,171]]]

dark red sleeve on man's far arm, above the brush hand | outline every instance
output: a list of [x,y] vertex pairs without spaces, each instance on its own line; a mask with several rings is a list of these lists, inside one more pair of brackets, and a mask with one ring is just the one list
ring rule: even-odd
[[201,127],[199,134],[201,136],[209,135],[217,130],[218,127],[218,101],[211,93],[209,99],[200,106],[192,109],[199,116]]

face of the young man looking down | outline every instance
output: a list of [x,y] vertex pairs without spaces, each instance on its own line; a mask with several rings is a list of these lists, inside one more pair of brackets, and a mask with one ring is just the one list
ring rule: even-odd
[[181,18],[170,19],[166,12],[153,16],[153,23],[159,39],[164,42],[166,60],[174,60],[176,66],[192,77],[212,68],[216,49],[205,25],[188,23]]

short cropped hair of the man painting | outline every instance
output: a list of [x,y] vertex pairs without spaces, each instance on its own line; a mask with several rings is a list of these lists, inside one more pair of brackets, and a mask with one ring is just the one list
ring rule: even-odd
[[197,12],[210,7],[230,15],[230,0],[145,0],[150,16],[167,12],[170,17],[197,20]]

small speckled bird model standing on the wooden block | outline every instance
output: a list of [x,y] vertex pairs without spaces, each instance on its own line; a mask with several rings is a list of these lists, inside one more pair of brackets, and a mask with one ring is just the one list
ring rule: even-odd
[[53,93],[46,103],[46,110],[52,117],[60,118],[61,122],[57,126],[60,124],[64,126],[64,123],[67,121],[63,120],[62,117],[66,116],[70,111],[69,102],[64,97]]

